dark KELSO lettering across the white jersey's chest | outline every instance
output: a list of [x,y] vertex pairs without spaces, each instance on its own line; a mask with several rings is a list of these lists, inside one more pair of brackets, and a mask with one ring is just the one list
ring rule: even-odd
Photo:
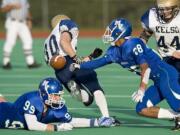
[[180,30],[177,26],[175,27],[164,27],[164,26],[156,26],[157,33],[180,33]]

